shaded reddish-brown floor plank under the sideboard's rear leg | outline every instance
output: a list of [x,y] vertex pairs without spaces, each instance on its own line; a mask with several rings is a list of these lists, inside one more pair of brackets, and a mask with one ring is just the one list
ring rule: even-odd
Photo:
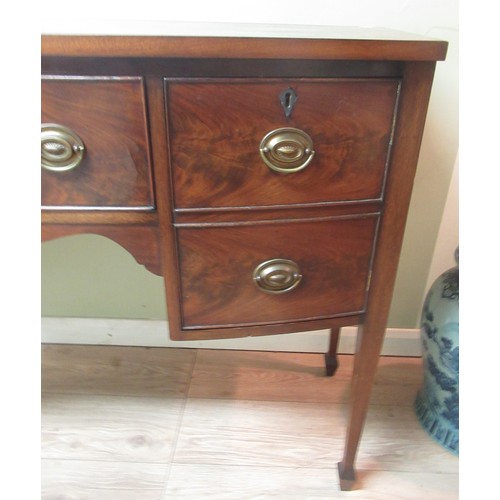
[[[353,360],[340,355],[332,378],[321,354],[200,350],[189,397],[346,403]],[[381,358],[372,403],[411,406],[421,365],[420,358]]]

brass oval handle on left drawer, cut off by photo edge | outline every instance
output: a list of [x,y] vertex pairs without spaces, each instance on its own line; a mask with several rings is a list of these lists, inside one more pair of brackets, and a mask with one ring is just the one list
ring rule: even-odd
[[80,165],[85,145],[71,129],[56,123],[42,124],[42,168],[65,172]]

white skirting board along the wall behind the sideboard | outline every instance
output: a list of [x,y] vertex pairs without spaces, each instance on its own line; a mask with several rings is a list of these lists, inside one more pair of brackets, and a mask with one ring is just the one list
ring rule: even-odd
[[[239,339],[173,341],[169,338],[168,322],[159,320],[44,317],[41,320],[41,327],[41,341],[47,344],[322,353],[328,350],[329,340],[328,330],[318,330]],[[354,353],[356,334],[356,327],[342,328],[339,353]],[[421,356],[421,354],[418,329],[389,328],[386,331],[382,355]]]

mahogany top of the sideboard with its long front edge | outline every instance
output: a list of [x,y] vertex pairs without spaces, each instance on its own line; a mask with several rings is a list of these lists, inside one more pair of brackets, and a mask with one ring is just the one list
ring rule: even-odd
[[[307,27],[311,30],[312,27]],[[356,29],[354,30],[356,32]],[[47,55],[94,55],[134,57],[200,57],[241,59],[361,59],[424,61],[442,60],[448,44],[439,40],[374,30],[367,38],[366,28],[358,28],[348,38],[330,27],[329,36],[303,39],[268,36],[61,36],[43,35],[42,52]],[[387,36],[388,34],[389,36]],[[191,34],[193,35],[193,34]],[[379,37],[386,39],[380,40]],[[403,35],[403,38],[401,38]],[[354,38],[353,38],[354,37]],[[329,39],[330,38],[330,39]],[[353,39],[349,39],[353,38]],[[361,38],[361,39],[360,39]],[[363,39],[365,38],[365,39]],[[293,43],[291,41],[293,40]]]

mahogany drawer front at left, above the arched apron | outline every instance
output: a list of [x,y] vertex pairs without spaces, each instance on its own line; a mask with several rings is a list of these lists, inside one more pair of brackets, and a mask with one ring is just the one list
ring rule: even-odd
[[[76,134],[84,150],[74,168],[60,168],[49,148],[59,127],[42,127],[42,205],[48,208],[154,206],[146,104],[141,78],[42,80],[42,124]],[[66,136],[63,136],[66,140]],[[48,160],[43,157],[43,144]],[[64,153],[64,151],[63,151]],[[54,168],[55,165],[55,168]]]

